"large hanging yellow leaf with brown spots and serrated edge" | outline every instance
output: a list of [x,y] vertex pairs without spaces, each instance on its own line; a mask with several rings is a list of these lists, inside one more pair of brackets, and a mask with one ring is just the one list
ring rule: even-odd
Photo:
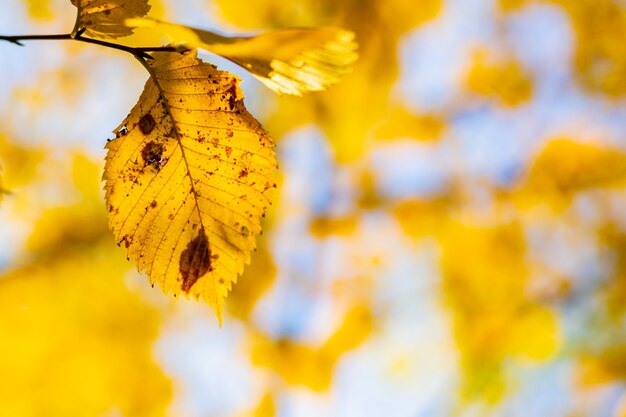
[[273,141],[245,109],[237,77],[195,52],[154,57],[107,145],[110,227],[151,283],[206,300],[221,321],[275,188]]

